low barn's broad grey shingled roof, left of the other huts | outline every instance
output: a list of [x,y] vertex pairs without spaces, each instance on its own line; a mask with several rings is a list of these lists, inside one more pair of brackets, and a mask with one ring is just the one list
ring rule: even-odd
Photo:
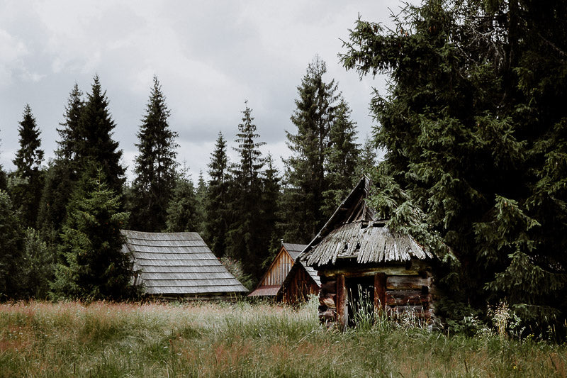
[[134,260],[134,284],[158,299],[235,299],[248,290],[210,252],[198,233],[122,230]]

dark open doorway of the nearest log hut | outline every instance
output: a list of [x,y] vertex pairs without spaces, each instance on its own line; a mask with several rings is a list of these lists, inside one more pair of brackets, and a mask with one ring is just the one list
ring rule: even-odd
[[374,318],[374,277],[349,277],[344,279],[347,290],[348,326],[354,327],[361,321]]

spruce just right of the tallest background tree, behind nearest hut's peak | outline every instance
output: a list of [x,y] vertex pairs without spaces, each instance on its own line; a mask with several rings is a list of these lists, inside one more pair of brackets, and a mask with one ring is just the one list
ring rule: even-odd
[[359,145],[355,141],[357,129],[350,113],[348,104],[340,99],[329,133],[329,147],[325,150],[327,190],[323,192],[322,213],[327,218],[360,179],[357,177],[360,158]]

